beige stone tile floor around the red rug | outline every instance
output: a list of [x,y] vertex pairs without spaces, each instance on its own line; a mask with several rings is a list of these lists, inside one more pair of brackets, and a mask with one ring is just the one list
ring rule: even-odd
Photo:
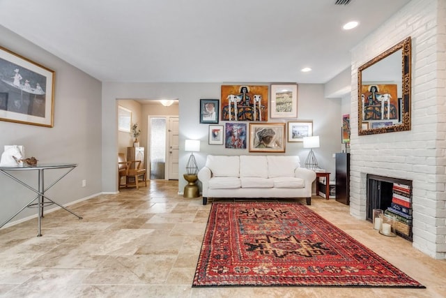
[[99,195],[0,230],[0,297],[446,297],[446,261],[383,237],[335,200],[311,208],[426,286],[191,288],[210,204],[177,195],[178,181]]

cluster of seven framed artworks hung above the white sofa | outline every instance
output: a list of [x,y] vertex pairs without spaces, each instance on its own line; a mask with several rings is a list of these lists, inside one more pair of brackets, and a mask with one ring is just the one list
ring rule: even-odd
[[208,144],[249,152],[285,153],[313,135],[313,121],[298,119],[295,83],[222,84],[220,100],[200,99],[199,123],[209,124]]

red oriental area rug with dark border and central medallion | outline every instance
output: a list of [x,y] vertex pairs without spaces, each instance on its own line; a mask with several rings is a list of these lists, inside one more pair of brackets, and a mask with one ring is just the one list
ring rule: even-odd
[[424,288],[302,204],[213,203],[192,287]]

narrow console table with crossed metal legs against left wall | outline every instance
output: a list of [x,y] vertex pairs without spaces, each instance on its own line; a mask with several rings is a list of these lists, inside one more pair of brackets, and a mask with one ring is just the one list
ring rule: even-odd
[[[5,174],[7,177],[10,177],[10,179],[17,181],[19,184],[22,184],[22,186],[29,188],[31,191],[33,191],[34,193],[37,194],[31,201],[29,201],[28,204],[24,205],[24,207],[22,207],[22,209],[17,211],[17,213],[15,213],[13,216],[11,216],[7,221],[2,223],[0,225],[0,228],[3,227],[3,225],[6,225],[6,223],[8,223],[15,216],[17,216],[17,214],[20,214],[20,212],[22,212],[26,207],[36,207],[37,206],[38,207],[38,216],[37,216],[37,218],[38,218],[38,234],[37,234],[37,237],[40,237],[40,236],[42,236],[40,221],[41,221],[41,218],[43,218],[43,207],[47,206],[47,205],[51,205],[51,204],[56,204],[57,206],[61,207],[62,209],[70,212],[70,214],[73,214],[74,216],[77,216],[77,218],[82,219],[81,216],[78,216],[74,212],[70,211],[66,207],[63,207],[61,204],[54,202],[54,200],[49,199],[45,195],[45,192],[48,191],[49,188],[52,188],[52,186],[54,186],[54,184],[59,182],[63,177],[66,177],[66,175],[69,172],[71,172],[72,170],[74,170],[75,167],[77,167],[77,164],[75,164],[75,163],[47,163],[47,164],[43,163],[43,164],[38,164],[35,166],[31,166],[31,165],[23,165],[23,166],[0,165],[0,172],[2,174]],[[67,169],[67,171],[64,174],[62,174],[58,179],[54,180],[52,182],[52,184],[49,184],[49,186],[45,187],[44,172],[45,172],[45,170],[54,170],[54,169]],[[12,173],[17,172],[17,171],[37,171],[38,172],[38,189],[26,184],[24,181],[15,177]],[[47,200],[46,202],[45,202],[45,199]],[[37,202],[33,203],[35,200],[37,200]]]

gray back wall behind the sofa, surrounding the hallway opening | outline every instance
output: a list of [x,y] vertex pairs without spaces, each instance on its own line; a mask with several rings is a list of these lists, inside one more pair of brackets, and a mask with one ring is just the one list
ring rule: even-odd
[[[243,82],[245,84],[245,82]],[[246,83],[249,84],[249,83]],[[200,98],[219,98],[221,83],[113,83],[102,86],[102,181],[103,191],[114,193],[117,171],[112,161],[116,160],[116,99],[118,98],[178,98],[180,119],[180,175],[178,192],[186,185],[183,179],[189,153],[183,151],[184,140],[201,140],[201,152],[195,154],[199,167],[206,161],[207,154],[240,155],[249,154],[248,149],[224,149],[220,145],[208,145],[208,125],[199,123]],[[329,111],[329,112],[328,112]],[[324,98],[323,84],[299,84],[298,119],[312,120],[314,135],[321,137],[321,148],[315,149],[319,165],[334,174],[332,154],[339,152],[341,143],[341,100]],[[269,122],[286,122],[295,119],[269,119]],[[220,121],[220,124],[224,122]],[[297,154],[302,164],[308,155],[302,143],[286,143],[286,154]]]

